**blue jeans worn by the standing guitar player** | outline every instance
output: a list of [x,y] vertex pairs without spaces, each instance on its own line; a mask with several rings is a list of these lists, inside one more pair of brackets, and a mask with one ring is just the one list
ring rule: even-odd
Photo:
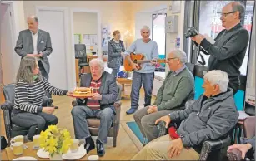
[[138,109],[139,90],[143,85],[145,91],[144,107],[151,105],[154,73],[133,72],[133,83],[131,91],[131,108]]

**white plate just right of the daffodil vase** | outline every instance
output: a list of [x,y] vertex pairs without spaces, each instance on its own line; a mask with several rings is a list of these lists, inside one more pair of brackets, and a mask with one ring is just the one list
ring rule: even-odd
[[77,152],[72,153],[70,150],[68,150],[67,154],[63,154],[63,159],[67,159],[67,160],[81,159],[86,154],[87,154],[87,151],[86,149],[84,149],[84,145],[81,144]]

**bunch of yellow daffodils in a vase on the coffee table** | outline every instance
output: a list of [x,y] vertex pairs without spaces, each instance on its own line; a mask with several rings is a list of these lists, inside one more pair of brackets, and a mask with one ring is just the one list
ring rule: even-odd
[[67,129],[58,129],[56,125],[48,126],[48,129],[40,133],[40,147],[47,151],[50,160],[62,160],[62,154],[66,154],[73,144],[73,139]]

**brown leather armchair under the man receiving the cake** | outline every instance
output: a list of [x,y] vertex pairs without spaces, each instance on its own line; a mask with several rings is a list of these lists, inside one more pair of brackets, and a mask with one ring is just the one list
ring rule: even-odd
[[[118,84],[118,101],[114,103],[114,108],[116,110],[116,115],[114,115],[112,127],[108,130],[108,137],[113,137],[113,147],[117,146],[117,137],[118,131],[120,127],[120,111],[121,111],[121,92],[122,92],[122,85]],[[72,101],[73,107],[78,105],[77,100]],[[88,129],[92,136],[98,136],[98,129],[100,125],[100,120],[97,118],[88,118]]]

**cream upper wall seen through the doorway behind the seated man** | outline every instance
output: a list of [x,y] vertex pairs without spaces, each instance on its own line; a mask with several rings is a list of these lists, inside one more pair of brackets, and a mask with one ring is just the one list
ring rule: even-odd
[[74,34],[97,34],[97,13],[74,12],[73,32]]

